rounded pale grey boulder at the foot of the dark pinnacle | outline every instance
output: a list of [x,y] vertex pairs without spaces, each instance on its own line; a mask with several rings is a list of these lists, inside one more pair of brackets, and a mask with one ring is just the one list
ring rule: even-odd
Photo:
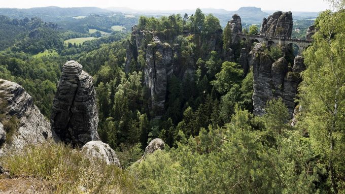
[[120,161],[115,153],[115,151],[106,143],[101,141],[90,141],[87,142],[83,148],[82,152],[88,156],[88,158],[96,157],[105,161],[108,165],[114,164],[121,168]]

